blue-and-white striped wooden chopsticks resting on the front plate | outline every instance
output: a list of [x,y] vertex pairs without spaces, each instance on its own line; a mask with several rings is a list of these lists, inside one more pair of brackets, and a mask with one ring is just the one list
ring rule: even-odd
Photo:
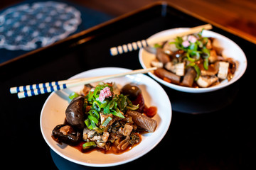
[[29,96],[36,96],[39,94],[46,94],[53,91],[58,91],[61,89],[67,89],[73,86],[80,86],[82,84],[90,84],[97,81],[103,81],[106,79],[113,79],[117,77],[123,77],[126,75],[132,74],[139,74],[139,73],[146,73],[156,69],[156,67],[151,67],[149,69],[137,69],[131,72],[124,72],[119,74],[112,74],[102,77],[90,77],[90,78],[83,78],[83,79],[71,79],[71,80],[62,80],[62,81],[51,81],[47,83],[41,84],[32,84],[26,86],[16,86],[11,87],[10,92],[11,94],[18,94],[18,98],[26,98]]

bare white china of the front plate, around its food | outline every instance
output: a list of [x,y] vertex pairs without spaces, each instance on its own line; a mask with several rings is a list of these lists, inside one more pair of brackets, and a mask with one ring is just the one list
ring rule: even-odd
[[[129,69],[117,67],[106,67],[100,69],[92,69],[87,72],[71,77],[76,79],[81,77],[97,77],[102,74],[116,74],[117,72],[128,72]],[[82,164],[85,166],[116,166],[131,162],[134,159],[142,157],[144,154],[153,149],[164,137],[171,123],[171,103],[164,89],[153,79],[144,74],[128,75],[107,81],[115,81],[118,86],[124,86],[128,82],[136,83],[144,94],[145,103],[148,106],[156,106],[158,113],[154,116],[158,126],[154,133],[142,135],[142,142],[133,147],[128,152],[122,154],[102,154],[101,152],[91,152],[83,154],[78,149],[68,145],[59,145],[51,138],[51,132],[55,125],[62,124],[65,120],[65,108],[68,106],[68,95],[71,91],[80,91],[82,86],[77,86],[72,89],[56,91],[48,97],[41,111],[41,132],[47,144],[54,152],[61,157],[68,159],[71,162]],[[155,94],[158,94],[157,96]],[[154,96],[154,97],[152,97]],[[165,101],[165,102],[162,102]]]

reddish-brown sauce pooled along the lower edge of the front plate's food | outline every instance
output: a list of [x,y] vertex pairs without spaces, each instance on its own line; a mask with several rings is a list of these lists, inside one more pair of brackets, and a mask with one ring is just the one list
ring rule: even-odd
[[124,152],[128,152],[133,147],[139,145],[139,143],[142,141],[142,137],[139,133],[137,133],[137,135],[139,136],[139,142],[132,145],[132,146],[129,145],[127,147],[127,149],[124,149],[124,150],[117,149],[117,144],[115,142],[111,144],[110,149],[107,150],[107,151],[105,149],[100,148],[100,147],[93,147],[93,148],[90,148],[90,149],[82,149],[82,145],[85,143],[85,141],[81,141],[78,145],[75,145],[75,146],[72,146],[72,147],[74,147],[75,149],[78,149],[80,152],[85,153],[85,154],[90,154],[93,151],[102,152],[102,154],[122,154]]

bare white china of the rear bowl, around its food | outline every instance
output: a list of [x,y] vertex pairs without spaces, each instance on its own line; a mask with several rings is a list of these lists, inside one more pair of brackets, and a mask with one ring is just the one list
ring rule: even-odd
[[[180,33],[188,29],[189,28],[174,28],[170,30],[164,30],[152,35],[150,38],[158,38],[158,37],[170,35],[173,33]],[[161,84],[164,84],[165,86],[168,86],[171,89],[188,92],[188,93],[205,93],[209,91],[215,91],[218,89],[222,89],[225,86],[229,86],[230,84],[233,84],[235,81],[240,79],[240,77],[242,77],[242,74],[245,73],[245,70],[247,67],[247,60],[245,57],[245,53],[242,51],[242,49],[229,38],[226,38],[225,36],[220,35],[218,33],[214,33],[213,31],[203,30],[203,36],[216,38],[217,40],[215,40],[214,45],[217,47],[223,48],[223,54],[222,54],[223,57],[231,57],[234,60],[239,62],[238,68],[235,71],[233,79],[231,79],[230,81],[228,80],[222,81],[220,84],[216,86],[210,86],[207,88],[193,88],[193,87],[179,86],[176,84],[168,83],[163,79],[156,77],[156,75],[153,74],[153,72],[149,72],[149,75],[154,79],[156,79],[156,81],[159,81]],[[144,50],[143,48],[139,50],[139,62],[142,64],[142,67],[144,69],[151,67],[150,63],[155,58],[156,56],[154,54],[146,52],[146,50]]]

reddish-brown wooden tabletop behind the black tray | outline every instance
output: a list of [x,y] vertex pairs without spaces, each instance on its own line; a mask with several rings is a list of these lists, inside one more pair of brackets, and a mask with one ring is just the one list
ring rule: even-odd
[[[113,16],[142,8],[156,0],[73,0]],[[167,0],[181,11],[256,43],[256,2],[254,0]]]

